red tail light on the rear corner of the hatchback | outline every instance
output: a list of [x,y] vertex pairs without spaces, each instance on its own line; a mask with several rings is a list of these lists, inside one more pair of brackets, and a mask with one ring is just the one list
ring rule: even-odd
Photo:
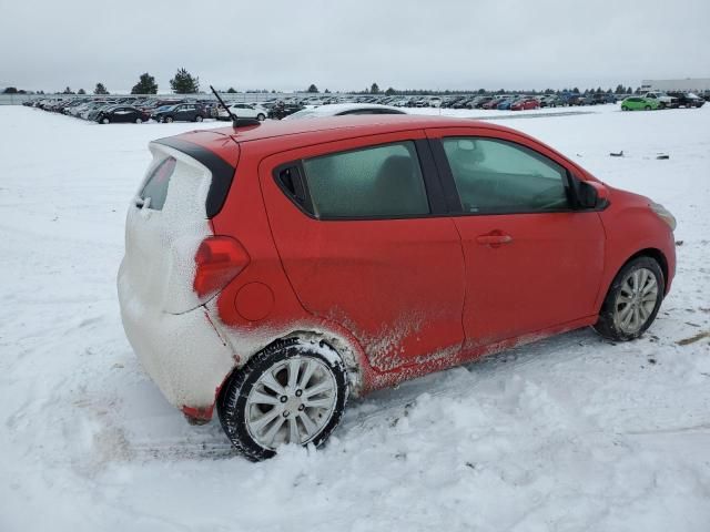
[[195,255],[194,290],[201,298],[224,288],[250,263],[246,249],[229,236],[210,236]]

